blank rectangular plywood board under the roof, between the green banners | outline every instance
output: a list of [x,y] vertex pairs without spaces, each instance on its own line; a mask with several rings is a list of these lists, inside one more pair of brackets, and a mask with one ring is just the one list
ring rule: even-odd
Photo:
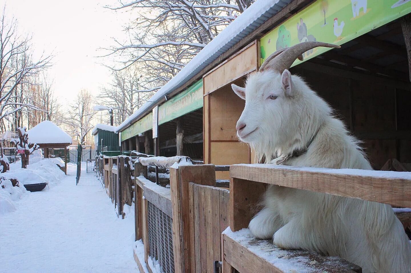
[[257,59],[257,45],[254,43],[204,76],[204,94],[213,92],[256,70]]

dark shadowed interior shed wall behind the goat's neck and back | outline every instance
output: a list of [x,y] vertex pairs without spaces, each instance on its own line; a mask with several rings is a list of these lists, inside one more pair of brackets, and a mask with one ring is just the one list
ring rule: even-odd
[[380,170],[390,158],[411,163],[409,85],[407,89],[404,83],[309,62],[291,71],[303,76],[336,110],[349,131],[363,140],[362,146],[375,170]]

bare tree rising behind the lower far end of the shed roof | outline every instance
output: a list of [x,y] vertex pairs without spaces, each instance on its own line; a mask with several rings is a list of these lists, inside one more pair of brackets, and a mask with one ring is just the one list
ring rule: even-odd
[[122,71],[113,71],[113,82],[101,89],[98,103],[113,108],[114,125],[117,126],[142,106],[158,88],[147,87],[141,68],[134,64]]

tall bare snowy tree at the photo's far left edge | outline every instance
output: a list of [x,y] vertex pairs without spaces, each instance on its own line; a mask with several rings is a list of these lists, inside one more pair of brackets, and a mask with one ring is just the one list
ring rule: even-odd
[[50,66],[50,55],[34,61],[30,54],[30,38],[18,34],[17,21],[7,20],[5,7],[0,17],[0,128],[5,119],[16,129],[21,126],[22,112],[41,110],[24,96],[25,87],[32,84],[39,72]]

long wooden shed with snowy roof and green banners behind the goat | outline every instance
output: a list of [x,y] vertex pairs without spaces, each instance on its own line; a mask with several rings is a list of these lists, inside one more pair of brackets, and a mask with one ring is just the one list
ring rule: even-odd
[[[231,33],[238,32],[236,42],[229,31],[222,32],[216,43],[202,50],[208,55],[193,58],[190,67],[198,67],[195,73],[183,69],[119,126],[122,149],[186,155],[216,165],[253,163],[253,151],[236,137],[244,101],[230,85],[244,86],[247,75],[276,50],[316,40],[342,48],[310,50],[303,62],[296,60],[291,72],[305,78],[335,108],[363,141],[374,169],[393,158],[411,162],[411,2],[388,2],[369,2],[355,13],[350,1],[267,2],[264,23],[250,19],[238,29],[229,26]],[[196,95],[198,89],[203,101]],[[216,176],[228,179],[229,173],[219,171]]]

